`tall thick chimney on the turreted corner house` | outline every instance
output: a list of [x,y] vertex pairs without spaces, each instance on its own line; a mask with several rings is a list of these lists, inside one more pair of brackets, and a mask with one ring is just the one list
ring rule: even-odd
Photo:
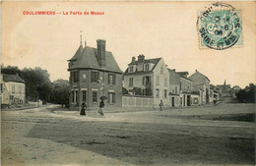
[[97,63],[100,67],[105,66],[105,40],[97,39],[96,40],[96,49],[97,49]]

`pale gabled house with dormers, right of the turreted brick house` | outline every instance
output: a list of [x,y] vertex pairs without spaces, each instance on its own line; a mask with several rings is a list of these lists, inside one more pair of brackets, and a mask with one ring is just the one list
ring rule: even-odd
[[136,61],[133,57],[123,77],[123,86],[130,94],[152,96],[154,107],[159,107],[160,100],[169,107],[169,73],[162,58],[139,55]]

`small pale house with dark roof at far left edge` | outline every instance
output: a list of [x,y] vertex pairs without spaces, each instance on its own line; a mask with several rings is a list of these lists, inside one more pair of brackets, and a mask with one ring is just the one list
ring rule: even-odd
[[26,85],[18,75],[1,75],[1,104],[23,105],[26,103]]

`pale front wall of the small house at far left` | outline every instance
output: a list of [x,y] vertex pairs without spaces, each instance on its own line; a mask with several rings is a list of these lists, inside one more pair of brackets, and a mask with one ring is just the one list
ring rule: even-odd
[[5,83],[9,92],[10,104],[21,105],[26,103],[26,86],[25,83],[8,82]]

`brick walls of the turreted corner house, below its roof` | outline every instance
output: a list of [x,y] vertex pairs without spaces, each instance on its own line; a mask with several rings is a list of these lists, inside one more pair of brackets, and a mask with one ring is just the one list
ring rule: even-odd
[[[97,83],[91,83],[92,71],[99,73],[99,80]],[[108,99],[104,100],[106,107],[121,107],[122,106],[122,75],[98,71],[98,70],[79,70],[78,71],[79,82],[71,83],[70,103],[71,106],[79,106],[83,102],[83,91],[86,91],[86,102],[88,107],[98,107],[100,102],[100,96],[114,95],[114,103],[109,103]],[[115,84],[108,84],[108,74],[115,75]],[[72,78],[70,78],[70,82]],[[77,102],[73,102],[73,91],[76,91]],[[93,101],[93,93],[96,92],[96,101]]]

